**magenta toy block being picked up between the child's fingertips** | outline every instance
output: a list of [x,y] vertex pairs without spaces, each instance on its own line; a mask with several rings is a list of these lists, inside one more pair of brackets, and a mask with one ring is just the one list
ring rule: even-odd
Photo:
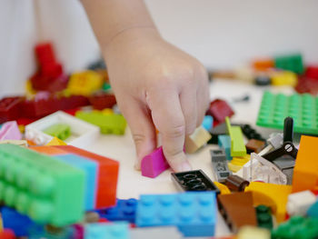
[[146,177],[156,177],[163,173],[170,166],[164,157],[163,147],[155,149],[153,153],[144,156],[141,168],[142,175]]

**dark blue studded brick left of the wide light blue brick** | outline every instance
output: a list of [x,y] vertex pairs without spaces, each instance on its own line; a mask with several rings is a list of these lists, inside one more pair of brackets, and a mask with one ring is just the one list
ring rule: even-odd
[[127,221],[134,224],[138,200],[117,199],[116,205],[97,212],[108,221]]

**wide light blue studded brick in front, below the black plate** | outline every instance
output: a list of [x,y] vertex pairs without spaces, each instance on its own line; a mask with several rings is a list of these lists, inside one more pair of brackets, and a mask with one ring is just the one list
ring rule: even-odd
[[137,226],[175,225],[184,236],[214,236],[214,192],[141,195]]

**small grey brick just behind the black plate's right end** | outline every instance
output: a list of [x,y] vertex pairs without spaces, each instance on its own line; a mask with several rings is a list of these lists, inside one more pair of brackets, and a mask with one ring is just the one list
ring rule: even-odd
[[224,149],[210,150],[214,179],[219,183],[225,183],[228,176],[232,174],[227,166]]

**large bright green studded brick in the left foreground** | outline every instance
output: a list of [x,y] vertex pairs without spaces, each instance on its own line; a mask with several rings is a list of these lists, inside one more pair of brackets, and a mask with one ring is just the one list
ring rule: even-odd
[[35,223],[75,224],[84,214],[84,171],[14,144],[0,144],[0,201]]

